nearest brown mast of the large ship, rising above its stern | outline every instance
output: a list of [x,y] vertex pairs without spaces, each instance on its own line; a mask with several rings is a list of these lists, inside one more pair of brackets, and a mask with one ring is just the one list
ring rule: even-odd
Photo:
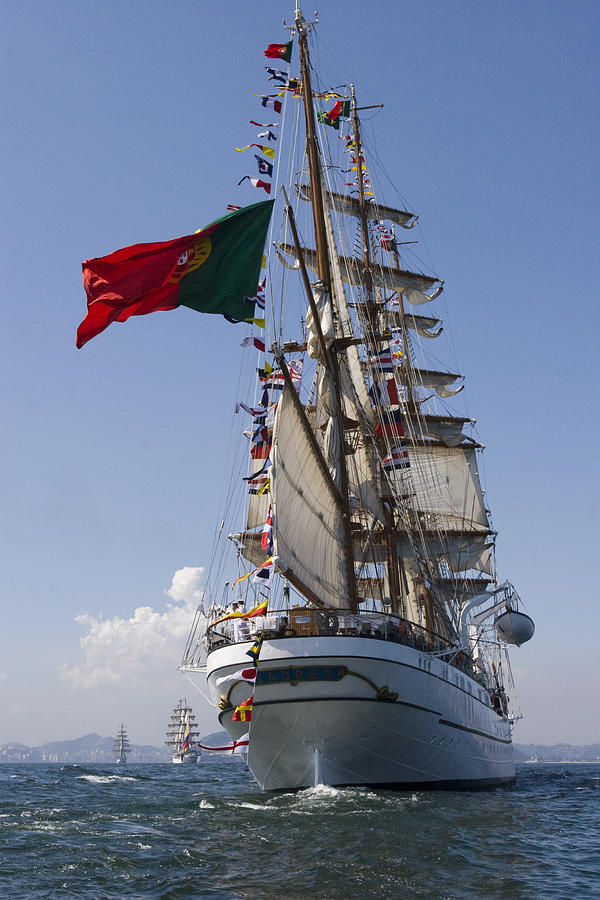
[[[317,145],[315,128],[315,111],[312,101],[312,85],[310,80],[310,56],[308,52],[307,23],[299,7],[295,11],[295,25],[298,31],[298,46],[300,51],[300,75],[304,95],[304,113],[306,119],[306,147],[308,153],[308,165],[310,171],[312,210],[315,226],[315,241],[318,262],[319,281],[324,285],[331,298],[331,271],[329,265],[329,251],[327,244],[327,232],[325,225],[325,209],[323,202],[323,182],[321,177],[320,154]],[[333,381],[333,418],[337,421],[340,434],[339,479],[340,494],[343,504],[344,545],[346,561],[346,577],[348,580],[348,593],[350,609],[354,612],[358,609],[358,592],[356,589],[356,575],[354,572],[354,546],[352,541],[352,523],[350,520],[350,499],[348,491],[348,467],[346,464],[346,437],[344,431],[344,417],[342,413],[341,383],[339,364],[334,347],[327,350],[324,363],[331,373]]]

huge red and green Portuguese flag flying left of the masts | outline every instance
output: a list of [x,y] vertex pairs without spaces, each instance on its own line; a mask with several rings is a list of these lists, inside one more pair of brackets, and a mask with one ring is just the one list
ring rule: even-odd
[[88,311],[77,329],[77,346],[111,322],[177,306],[238,322],[252,318],[273,203],[245,206],[195,234],[86,260]]

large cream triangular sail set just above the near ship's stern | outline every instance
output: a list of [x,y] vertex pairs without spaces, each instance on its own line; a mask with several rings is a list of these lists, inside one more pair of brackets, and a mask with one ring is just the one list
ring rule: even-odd
[[278,569],[307,596],[347,607],[342,511],[287,386],[275,415],[272,460],[273,545]]

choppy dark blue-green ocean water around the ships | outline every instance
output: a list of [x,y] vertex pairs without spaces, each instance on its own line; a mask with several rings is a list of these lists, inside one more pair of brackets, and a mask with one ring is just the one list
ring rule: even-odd
[[0,765],[0,897],[600,896],[600,766],[514,787],[263,794],[239,758]]

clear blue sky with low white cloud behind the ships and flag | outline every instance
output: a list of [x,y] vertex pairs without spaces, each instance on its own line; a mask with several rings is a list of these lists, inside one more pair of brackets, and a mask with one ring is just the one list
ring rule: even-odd
[[[244,326],[179,309],[76,350],[80,264],[263,199],[237,187],[250,170],[234,148],[255,140],[263,50],[292,14],[4,0],[0,744],[121,721],[159,744],[183,696],[201,733],[217,728],[177,666],[222,517]],[[325,0],[319,14],[332,82],[384,104],[366,133],[446,282],[500,577],[536,622],[512,653],[515,740],[600,741],[600,8]]]

